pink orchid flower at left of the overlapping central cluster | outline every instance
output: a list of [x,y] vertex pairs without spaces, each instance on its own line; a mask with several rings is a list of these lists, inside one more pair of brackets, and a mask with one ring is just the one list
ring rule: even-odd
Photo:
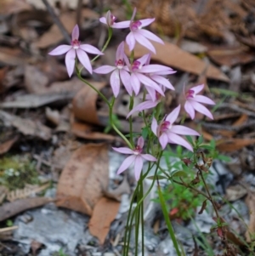
[[116,50],[115,66],[102,65],[99,68],[96,68],[94,70],[95,73],[99,73],[99,74],[107,74],[107,73],[110,73],[111,71],[113,71],[111,73],[110,83],[111,83],[112,92],[115,97],[117,97],[117,95],[120,92],[121,80],[127,90],[127,93],[129,95],[132,95],[132,93],[133,93],[133,88],[130,85],[130,79],[129,79],[130,76],[127,73],[127,71],[125,69],[123,69],[123,67],[125,65],[124,55],[125,55],[124,42],[122,42]]

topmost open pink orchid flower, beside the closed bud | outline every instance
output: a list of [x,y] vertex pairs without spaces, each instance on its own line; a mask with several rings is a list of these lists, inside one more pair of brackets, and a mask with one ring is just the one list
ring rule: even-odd
[[138,43],[143,45],[145,48],[148,48],[151,52],[156,54],[156,49],[154,48],[154,46],[152,45],[152,43],[150,43],[150,41],[148,39],[155,41],[157,43],[161,43],[161,44],[164,44],[164,42],[161,40],[160,37],[157,37],[150,31],[143,29],[144,26],[150,25],[150,23],[152,23],[155,20],[155,18],[134,21],[133,19],[134,19],[135,14],[136,14],[136,8],[133,10],[133,15],[130,20],[130,26],[129,26],[130,32],[126,37],[126,42],[129,47],[129,50],[130,51],[133,50],[135,41],[137,41]]

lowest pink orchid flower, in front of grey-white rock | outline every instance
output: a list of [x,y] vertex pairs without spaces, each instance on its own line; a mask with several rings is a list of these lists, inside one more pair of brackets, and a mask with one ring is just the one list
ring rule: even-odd
[[142,154],[143,147],[144,147],[144,138],[139,137],[137,146],[135,147],[134,150],[131,150],[127,147],[112,148],[114,151],[117,151],[119,153],[131,155],[131,156],[127,156],[127,158],[122,162],[122,165],[117,170],[117,174],[122,174],[122,172],[127,170],[127,168],[132,163],[134,163],[134,177],[136,180],[139,180],[139,177],[144,165],[144,159],[150,162],[156,162],[156,157],[151,156],[150,154]]

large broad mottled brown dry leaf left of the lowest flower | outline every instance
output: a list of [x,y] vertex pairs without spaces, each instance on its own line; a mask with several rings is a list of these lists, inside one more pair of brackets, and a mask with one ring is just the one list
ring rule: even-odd
[[108,145],[82,145],[60,175],[57,205],[91,215],[108,189],[108,162]]

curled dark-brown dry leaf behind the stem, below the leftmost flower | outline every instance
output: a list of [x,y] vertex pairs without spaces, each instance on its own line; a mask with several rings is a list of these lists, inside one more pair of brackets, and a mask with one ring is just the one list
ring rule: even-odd
[[[91,82],[95,88],[102,89],[106,82]],[[97,114],[96,102],[99,95],[89,86],[84,86],[75,96],[73,104],[73,113],[75,117],[82,121],[101,124]]]

